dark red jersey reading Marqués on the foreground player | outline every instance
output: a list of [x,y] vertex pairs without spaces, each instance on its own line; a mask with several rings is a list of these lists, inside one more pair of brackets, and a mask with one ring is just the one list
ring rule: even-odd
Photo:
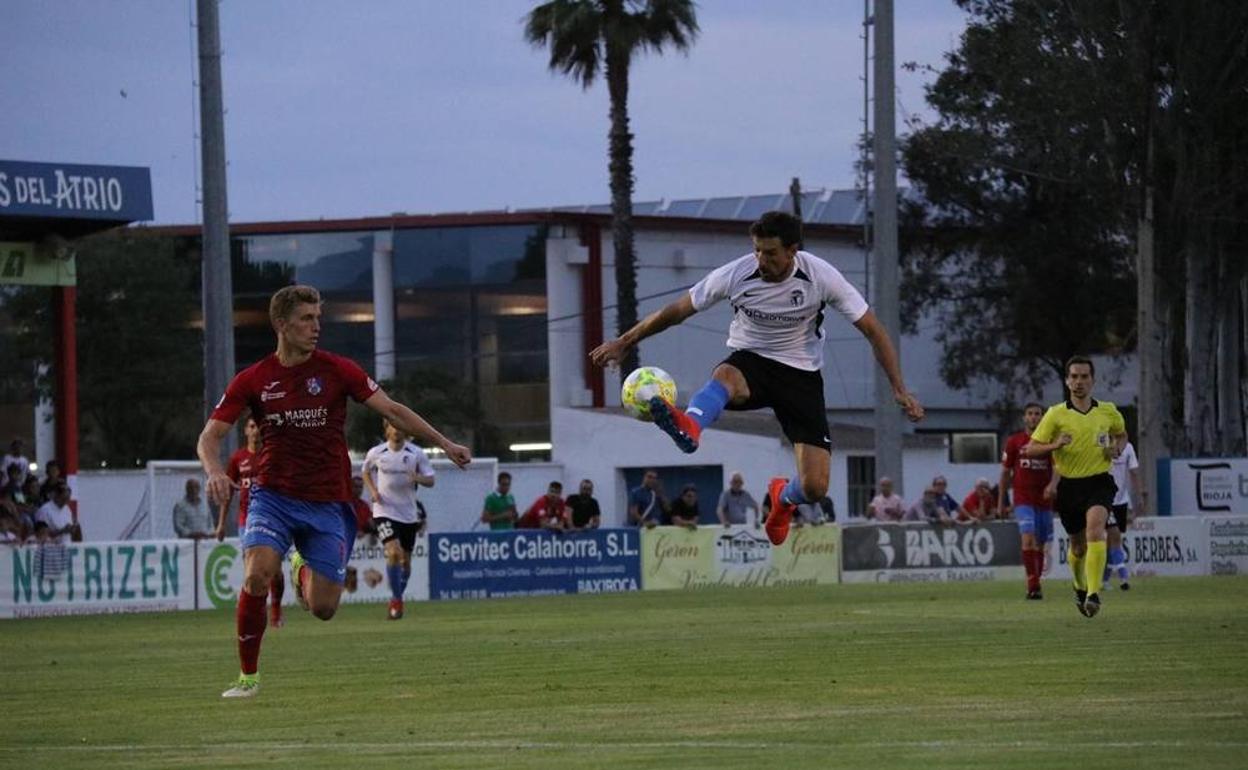
[[377,383],[349,358],[313,351],[285,367],[271,353],[230,382],[212,419],[251,409],[263,446],[255,482],[301,500],[349,500],[347,397],[367,401]]

